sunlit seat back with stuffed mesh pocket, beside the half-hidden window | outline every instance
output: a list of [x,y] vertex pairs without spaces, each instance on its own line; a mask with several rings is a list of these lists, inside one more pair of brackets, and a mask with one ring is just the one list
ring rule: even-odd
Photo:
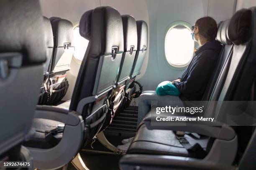
[[55,105],[64,97],[69,87],[66,72],[70,70],[74,52],[74,31],[69,20],[51,17],[50,21],[54,35],[54,50],[48,84],[49,98],[46,104]]

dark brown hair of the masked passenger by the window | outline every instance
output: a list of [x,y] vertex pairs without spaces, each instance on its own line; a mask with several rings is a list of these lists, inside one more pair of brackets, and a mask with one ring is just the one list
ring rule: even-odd
[[203,17],[196,21],[195,26],[198,27],[199,34],[206,38],[207,41],[213,41],[217,35],[217,23],[211,17]]

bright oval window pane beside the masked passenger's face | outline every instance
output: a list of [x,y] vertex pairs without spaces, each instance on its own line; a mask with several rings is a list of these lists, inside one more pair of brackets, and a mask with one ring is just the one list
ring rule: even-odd
[[170,65],[184,67],[194,54],[195,42],[188,25],[171,24],[165,35],[165,57]]

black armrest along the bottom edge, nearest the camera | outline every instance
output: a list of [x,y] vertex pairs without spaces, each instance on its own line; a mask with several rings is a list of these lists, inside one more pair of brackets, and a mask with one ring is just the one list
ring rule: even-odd
[[236,170],[231,165],[223,165],[195,158],[163,155],[128,154],[120,160],[121,170]]

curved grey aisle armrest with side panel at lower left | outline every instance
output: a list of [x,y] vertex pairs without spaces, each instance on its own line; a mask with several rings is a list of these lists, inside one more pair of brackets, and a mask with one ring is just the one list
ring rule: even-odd
[[52,148],[27,147],[33,157],[35,168],[57,169],[72,160],[79,152],[84,139],[84,120],[77,112],[55,106],[36,107],[34,118],[44,118],[65,123],[60,142]]

